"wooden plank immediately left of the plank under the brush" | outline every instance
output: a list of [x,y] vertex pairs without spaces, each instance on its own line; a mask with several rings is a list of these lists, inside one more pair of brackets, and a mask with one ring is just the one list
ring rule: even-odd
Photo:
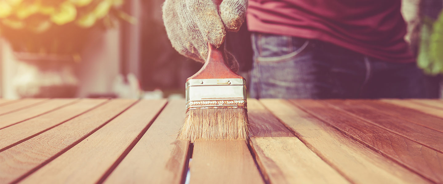
[[189,141],[177,139],[185,120],[184,100],[168,102],[140,141],[106,178],[105,184],[179,184],[188,158]]

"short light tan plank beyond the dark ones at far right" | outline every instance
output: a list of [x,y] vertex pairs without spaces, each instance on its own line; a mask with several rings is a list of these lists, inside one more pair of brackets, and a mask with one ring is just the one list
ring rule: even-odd
[[422,113],[427,113],[427,114],[430,114],[433,116],[443,118],[443,109],[435,108],[435,107],[428,106],[428,105],[423,105],[423,104],[417,103],[415,101],[399,100],[399,99],[382,99],[381,101],[395,104],[395,105],[400,105],[403,107],[407,107],[410,109],[420,111]]

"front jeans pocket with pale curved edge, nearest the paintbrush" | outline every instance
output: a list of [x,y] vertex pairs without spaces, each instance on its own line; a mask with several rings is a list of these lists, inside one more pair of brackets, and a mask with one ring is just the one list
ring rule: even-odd
[[[285,48],[281,48],[281,45],[277,45],[276,43],[259,44],[258,47],[260,47],[260,50],[258,56],[256,56],[256,62],[260,64],[273,64],[294,60],[295,56],[298,56],[307,48],[309,40],[300,38],[300,40],[295,41],[295,43],[291,40],[291,43],[284,45]],[[281,52],[281,50],[288,49],[288,47],[291,49],[291,52]]]

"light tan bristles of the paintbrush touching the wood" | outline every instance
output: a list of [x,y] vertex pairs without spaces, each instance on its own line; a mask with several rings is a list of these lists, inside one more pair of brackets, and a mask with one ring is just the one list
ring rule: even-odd
[[190,109],[179,139],[246,140],[248,114],[243,108]]

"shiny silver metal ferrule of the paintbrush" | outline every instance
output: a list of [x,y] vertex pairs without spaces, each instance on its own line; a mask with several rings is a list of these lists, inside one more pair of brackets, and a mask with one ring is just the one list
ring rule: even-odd
[[186,112],[190,109],[246,109],[245,79],[189,79]]

